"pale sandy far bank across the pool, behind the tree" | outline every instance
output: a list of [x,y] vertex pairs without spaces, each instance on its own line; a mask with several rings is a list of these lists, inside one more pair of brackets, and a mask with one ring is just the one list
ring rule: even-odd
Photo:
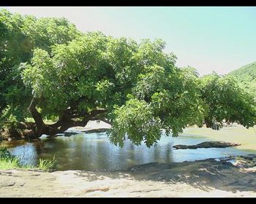
[[[58,136],[73,136],[80,133],[103,133],[111,128],[111,125],[102,121],[89,121],[85,127],[70,127],[65,133],[56,136],[41,136],[35,140],[26,140],[24,138],[15,139],[0,138],[1,141],[39,141],[41,138],[55,138]],[[233,125],[232,127],[222,127],[220,130],[212,130],[207,127],[186,127],[182,136],[200,136],[208,138],[208,141],[224,141],[227,143],[238,143],[241,146],[234,146],[236,149],[255,150],[256,149],[256,126],[243,127],[242,125]],[[224,136],[223,136],[224,135]]]

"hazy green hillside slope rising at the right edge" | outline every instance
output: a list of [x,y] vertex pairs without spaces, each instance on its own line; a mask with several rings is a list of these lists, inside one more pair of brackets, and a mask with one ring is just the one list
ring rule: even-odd
[[233,76],[244,90],[256,96],[256,62],[242,66],[227,75]]

